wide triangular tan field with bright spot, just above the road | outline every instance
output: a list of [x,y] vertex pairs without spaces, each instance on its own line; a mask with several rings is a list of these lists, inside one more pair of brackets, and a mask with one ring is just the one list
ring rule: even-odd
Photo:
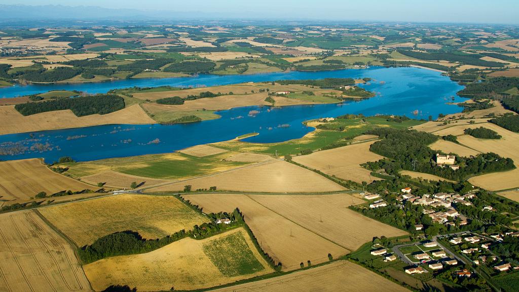
[[311,170],[284,161],[245,166],[206,177],[185,180],[147,190],[148,192],[172,192],[184,189],[244,191],[244,192],[333,192],[344,190]]

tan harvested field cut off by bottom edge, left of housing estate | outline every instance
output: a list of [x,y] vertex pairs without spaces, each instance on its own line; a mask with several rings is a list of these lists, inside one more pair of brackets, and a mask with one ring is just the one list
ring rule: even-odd
[[409,291],[370,270],[349,261],[336,261],[325,266],[297,271],[275,278],[230,286],[215,292],[280,292],[280,291],[377,291],[380,287],[394,292]]

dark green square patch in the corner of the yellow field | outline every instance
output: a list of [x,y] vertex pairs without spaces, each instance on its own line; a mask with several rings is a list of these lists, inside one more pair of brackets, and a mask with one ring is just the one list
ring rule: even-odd
[[203,244],[203,252],[214,266],[228,277],[248,275],[265,269],[247,245],[242,232],[235,232]]

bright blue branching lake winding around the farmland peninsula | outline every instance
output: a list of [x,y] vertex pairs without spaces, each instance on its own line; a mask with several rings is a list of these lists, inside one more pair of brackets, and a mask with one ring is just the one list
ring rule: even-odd
[[[326,77],[370,77],[367,90],[376,97],[339,104],[294,105],[283,108],[243,107],[217,112],[218,120],[176,125],[103,125],[84,128],[38,131],[0,136],[0,149],[23,149],[22,154],[0,155],[2,160],[43,157],[47,162],[61,156],[77,161],[109,157],[165,153],[192,145],[233,139],[249,132],[260,135],[244,141],[271,143],[301,138],[313,128],[303,121],[334,117],[346,113],[364,115],[396,114],[412,118],[434,118],[438,114],[460,112],[462,108],[448,102],[466,100],[456,96],[463,87],[439,72],[418,68],[369,68],[327,72],[289,72],[256,75],[199,75],[165,79],[130,79],[125,81],[75,84],[30,85],[0,89],[0,96],[13,97],[52,89],[75,89],[91,93],[132,86],[213,86],[277,79],[319,79]],[[289,125],[288,127],[282,125]],[[42,146],[44,145],[44,146]],[[43,151],[42,151],[43,149]]]

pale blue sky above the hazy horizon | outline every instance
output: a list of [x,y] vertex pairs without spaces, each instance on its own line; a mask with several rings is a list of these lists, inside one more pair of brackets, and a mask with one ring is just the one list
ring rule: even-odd
[[218,18],[519,24],[519,0],[2,0],[1,4],[201,12]]

